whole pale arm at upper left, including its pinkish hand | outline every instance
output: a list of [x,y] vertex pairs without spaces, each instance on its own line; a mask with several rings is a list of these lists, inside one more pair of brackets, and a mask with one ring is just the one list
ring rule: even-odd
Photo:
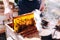
[[4,4],[4,15],[6,16],[6,19],[12,19],[12,10],[9,6],[9,0],[3,0],[3,4]]

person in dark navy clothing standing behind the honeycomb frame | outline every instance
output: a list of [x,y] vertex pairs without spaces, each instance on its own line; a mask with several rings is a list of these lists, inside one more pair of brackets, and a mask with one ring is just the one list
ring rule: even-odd
[[35,9],[41,9],[44,7],[44,0],[19,0],[18,1],[18,7],[19,12],[18,14],[25,14],[32,12]]

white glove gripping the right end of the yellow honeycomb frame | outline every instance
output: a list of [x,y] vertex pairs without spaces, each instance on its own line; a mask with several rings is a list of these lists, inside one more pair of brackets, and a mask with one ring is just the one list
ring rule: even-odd
[[34,20],[36,23],[37,30],[40,32],[41,31],[41,17],[40,17],[41,12],[39,10],[34,11]]

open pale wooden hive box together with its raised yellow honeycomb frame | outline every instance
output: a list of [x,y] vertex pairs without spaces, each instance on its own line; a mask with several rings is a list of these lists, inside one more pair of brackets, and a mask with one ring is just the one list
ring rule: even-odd
[[[35,27],[34,14],[26,13],[15,17],[12,23],[6,24],[7,33],[11,35],[14,39],[20,39],[25,37],[39,37],[37,28]],[[9,30],[9,31],[8,31]]]

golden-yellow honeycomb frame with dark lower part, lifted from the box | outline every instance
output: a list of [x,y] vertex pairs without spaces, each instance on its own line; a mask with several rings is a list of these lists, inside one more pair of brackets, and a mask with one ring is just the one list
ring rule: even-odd
[[[26,13],[14,18],[15,32],[22,32],[35,26],[34,13]],[[32,28],[33,29],[33,28]],[[36,29],[36,28],[35,28]]]

